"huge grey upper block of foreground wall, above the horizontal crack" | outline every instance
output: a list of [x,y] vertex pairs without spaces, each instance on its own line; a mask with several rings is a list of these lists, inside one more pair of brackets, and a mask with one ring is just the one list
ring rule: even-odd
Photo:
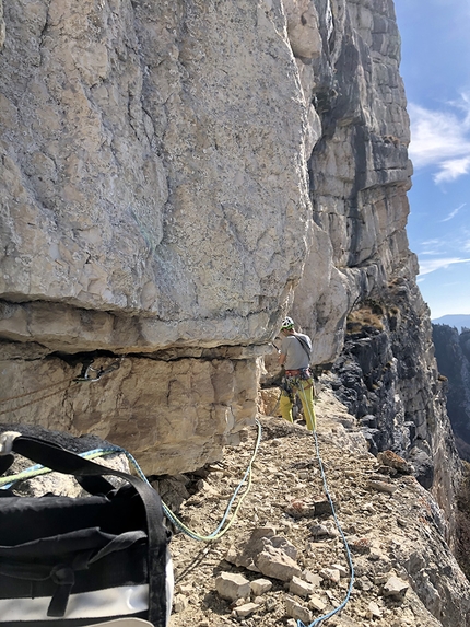
[[148,350],[269,337],[309,218],[280,4],[19,2],[5,23],[5,299],[126,313]]

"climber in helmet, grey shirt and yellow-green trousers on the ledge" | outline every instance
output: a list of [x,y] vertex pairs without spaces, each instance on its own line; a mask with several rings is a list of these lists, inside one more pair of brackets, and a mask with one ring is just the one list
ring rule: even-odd
[[298,394],[307,429],[315,431],[314,380],[309,369],[312,340],[307,335],[295,332],[294,321],[291,317],[283,321],[281,336],[279,363],[285,368],[280,398],[281,416],[287,422],[293,422],[292,406],[295,394]]

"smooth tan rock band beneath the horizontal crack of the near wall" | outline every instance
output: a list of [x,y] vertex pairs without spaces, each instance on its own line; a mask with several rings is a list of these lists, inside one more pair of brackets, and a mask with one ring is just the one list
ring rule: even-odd
[[97,355],[87,379],[80,374],[90,353],[10,353],[2,390],[11,400],[0,404],[0,418],[15,423],[27,416],[31,425],[107,439],[136,454],[148,474],[198,468],[236,443],[256,413],[257,361],[252,351],[240,349],[235,359],[233,352],[230,359],[222,349],[186,358]]

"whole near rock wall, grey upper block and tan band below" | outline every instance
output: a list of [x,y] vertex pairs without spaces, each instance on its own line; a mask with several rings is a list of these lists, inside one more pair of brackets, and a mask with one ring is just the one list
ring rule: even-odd
[[126,356],[4,417],[198,467],[254,419],[312,245],[283,7],[38,0],[3,21],[1,396]]

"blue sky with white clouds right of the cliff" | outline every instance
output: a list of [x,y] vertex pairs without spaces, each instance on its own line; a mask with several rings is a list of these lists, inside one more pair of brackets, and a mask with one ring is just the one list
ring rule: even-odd
[[470,314],[470,0],[395,0],[411,120],[410,248],[431,317]]

